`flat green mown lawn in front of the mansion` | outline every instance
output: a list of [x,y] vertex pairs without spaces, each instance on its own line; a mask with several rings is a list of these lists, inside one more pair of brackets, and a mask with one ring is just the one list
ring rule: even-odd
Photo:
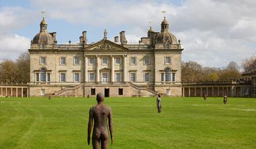
[[[92,148],[86,144],[94,98],[0,98],[0,148]],[[106,98],[113,110],[109,148],[256,148],[256,99]]]

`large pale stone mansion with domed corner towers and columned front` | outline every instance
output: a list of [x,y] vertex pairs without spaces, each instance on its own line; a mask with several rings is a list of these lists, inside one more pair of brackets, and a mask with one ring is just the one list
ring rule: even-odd
[[129,44],[124,31],[109,41],[106,30],[98,42],[88,43],[83,31],[79,43],[57,44],[43,18],[29,48],[29,96],[181,96],[183,48],[166,18],[160,27],[150,27],[137,44]]

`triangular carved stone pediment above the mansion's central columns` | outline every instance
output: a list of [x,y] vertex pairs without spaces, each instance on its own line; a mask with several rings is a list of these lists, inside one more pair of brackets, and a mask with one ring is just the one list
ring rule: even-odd
[[116,44],[115,42],[109,41],[107,39],[102,39],[101,41],[86,47],[84,50],[111,51],[111,50],[128,50],[128,48],[125,48],[124,46]]

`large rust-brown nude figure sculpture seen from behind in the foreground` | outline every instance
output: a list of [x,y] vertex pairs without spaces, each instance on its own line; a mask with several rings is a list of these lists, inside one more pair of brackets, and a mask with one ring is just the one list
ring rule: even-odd
[[98,93],[96,100],[98,104],[89,111],[88,122],[88,145],[90,144],[90,134],[92,131],[92,121],[94,120],[94,129],[92,132],[92,146],[94,149],[107,148],[109,146],[109,134],[107,127],[107,119],[109,119],[109,131],[111,137],[111,144],[113,144],[113,122],[111,109],[103,105],[104,96]]

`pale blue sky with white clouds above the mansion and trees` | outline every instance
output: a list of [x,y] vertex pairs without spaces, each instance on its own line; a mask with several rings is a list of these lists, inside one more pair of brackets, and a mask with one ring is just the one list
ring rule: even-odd
[[[56,31],[58,44],[79,41],[87,31],[88,42],[108,39],[126,31],[128,42],[147,36],[149,21],[160,31],[162,10],[170,31],[181,39],[183,61],[197,61],[206,67],[240,64],[256,54],[256,1],[93,1],[31,0],[0,1],[0,61],[16,59],[29,48],[39,32],[45,10],[48,32]],[[239,7],[237,7],[239,6]]]

